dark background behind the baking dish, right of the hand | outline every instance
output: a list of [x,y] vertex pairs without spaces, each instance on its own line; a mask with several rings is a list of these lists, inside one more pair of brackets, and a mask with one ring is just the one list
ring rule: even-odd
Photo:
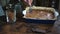
[[[52,2],[55,3],[52,3]],[[59,0],[34,0],[35,6],[44,6],[44,7],[52,7],[54,5],[55,9],[59,8]]]

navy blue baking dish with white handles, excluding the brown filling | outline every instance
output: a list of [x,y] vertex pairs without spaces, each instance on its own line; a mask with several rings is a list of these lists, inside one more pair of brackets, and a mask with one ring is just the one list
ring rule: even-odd
[[57,20],[57,16],[59,15],[59,13],[54,9],[54,8],[48,8],[48,7],[32,7],[33,9],[49,9],[49,10],[53,10],[55,18],[51,19],[51,20],[42,20],[42,19],[35,19],[35,18],[27,18],[26,12],[29,10],[29,7],[26,8],[26,10],[23,11],[23,19],[25,22],[27,23],[36,23],[36,24],[54,24],[55,21]]

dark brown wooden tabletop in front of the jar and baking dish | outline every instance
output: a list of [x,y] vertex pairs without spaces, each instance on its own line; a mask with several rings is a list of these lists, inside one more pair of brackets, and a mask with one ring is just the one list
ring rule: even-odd
[[[32,28],[37,28],[39,30],[44,30],[46,32],[35,32]],[[26,23],[22,20],[17,21],[15,24],[6,24],[3,26],[3,31],[0,34],[52,34],[53,25],[45,24],[33,24]]]

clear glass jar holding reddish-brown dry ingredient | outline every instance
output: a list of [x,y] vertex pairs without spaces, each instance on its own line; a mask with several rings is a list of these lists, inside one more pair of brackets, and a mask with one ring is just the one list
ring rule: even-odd
[[9,4],[6,6],[6,19],[9,23],[16,22],[16,10],[12,8],[12,4]]

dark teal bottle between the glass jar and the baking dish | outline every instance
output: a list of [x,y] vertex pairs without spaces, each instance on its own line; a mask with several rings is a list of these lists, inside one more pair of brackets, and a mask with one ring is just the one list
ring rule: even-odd
[[22,18],[22,11],[23,11],[23,9],[22,9],[22,2],[21,2],[21,0],[17,0],[18,1],[18,3],[16,3],[15,4],[15,10],[17,11],[16,13],[17,13],[17,19],[19,20],[20,18]]

